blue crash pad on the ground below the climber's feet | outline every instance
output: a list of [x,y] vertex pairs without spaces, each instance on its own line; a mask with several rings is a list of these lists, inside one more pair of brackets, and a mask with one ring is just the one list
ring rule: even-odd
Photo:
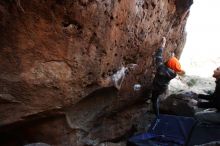
[[129,146],[183,146],[186,144],[196,120],[191,117],[159,115],[146,133],[128,140]]

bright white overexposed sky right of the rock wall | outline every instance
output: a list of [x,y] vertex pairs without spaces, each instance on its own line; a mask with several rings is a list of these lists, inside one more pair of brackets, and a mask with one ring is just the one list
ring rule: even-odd
[[194,0],[180,62],[187,75],[211,77],[220,66],[220,0]]

